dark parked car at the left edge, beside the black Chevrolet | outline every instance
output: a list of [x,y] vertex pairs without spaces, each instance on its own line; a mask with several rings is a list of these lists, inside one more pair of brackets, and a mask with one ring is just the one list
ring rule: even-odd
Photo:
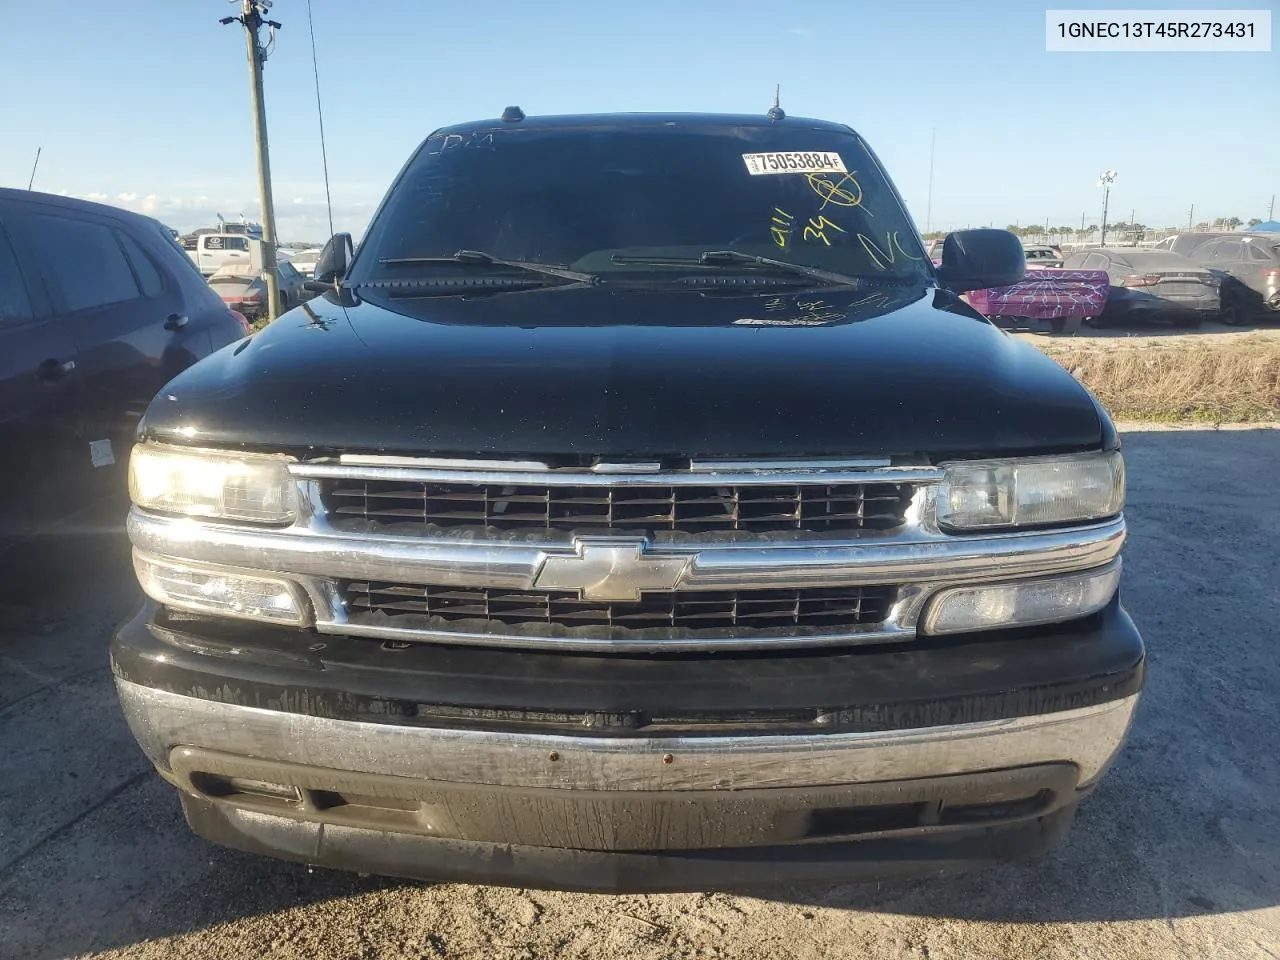
[[0,189],[0,545],[123,493],[151,398],[246,333],[159,221]]

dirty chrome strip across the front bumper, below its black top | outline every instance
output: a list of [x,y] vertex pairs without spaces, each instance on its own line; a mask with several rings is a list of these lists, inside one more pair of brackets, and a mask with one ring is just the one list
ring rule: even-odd
[[[1096,781],[1138,695],[982,723],[872,733],[575,737],[337,721],[180,696],[116,678],[129,727],[169,772],[177,746],[357,773],[559,790],[744,790],[914,780],[1074,763]],[[552,756],[554,755],[554,760]]]

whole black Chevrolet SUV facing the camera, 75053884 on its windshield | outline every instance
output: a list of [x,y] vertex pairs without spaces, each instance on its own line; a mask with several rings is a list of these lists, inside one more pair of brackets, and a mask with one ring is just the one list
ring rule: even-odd
[[212,840],[699,890],[1042,851],[1125,737],[1106,412],[870,147],[771,116],[433,133],[324,297],[131,460],[113,668]]

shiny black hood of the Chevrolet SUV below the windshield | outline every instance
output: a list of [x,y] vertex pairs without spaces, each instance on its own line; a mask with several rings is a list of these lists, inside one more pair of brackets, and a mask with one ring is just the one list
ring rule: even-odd
[[298,456],[564,462],[1047,453],[1108,429],[1065,370],[924,284],[330,293],[189,367],[142,425]]

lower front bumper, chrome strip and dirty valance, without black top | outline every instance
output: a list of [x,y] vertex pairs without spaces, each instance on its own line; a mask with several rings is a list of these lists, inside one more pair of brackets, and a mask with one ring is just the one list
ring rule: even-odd
[[210,840],[372,873],[584,890],[1034,855],[1066,829],[1137,703],[890,733],[604,740],[333,721],[118,684]]

